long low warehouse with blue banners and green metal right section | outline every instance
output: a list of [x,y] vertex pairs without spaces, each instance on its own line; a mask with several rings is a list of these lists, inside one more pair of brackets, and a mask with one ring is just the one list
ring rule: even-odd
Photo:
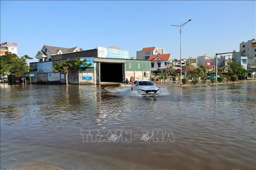
[[129,51],[112,46],[54,55],[52,61],[30,63],[31,74],[35,74],[32,83],[65,83],[65,73],[54,74],[51,67],[56,62],[77,57],[87,59],[92,65],[85,71],[70,70],[69,84],[122,83],[126,78],[130,81],[131,77],[146,80],[150,78],[150,61],[129,59]]

